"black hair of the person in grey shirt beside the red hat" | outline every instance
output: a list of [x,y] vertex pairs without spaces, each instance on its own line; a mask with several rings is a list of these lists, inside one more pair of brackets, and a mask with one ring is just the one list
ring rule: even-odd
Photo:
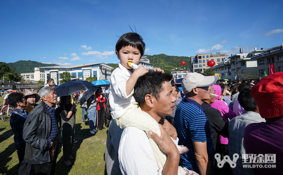
[[251,95],[251,89],[252,87],[243,89],[242,91],[240,91],[240,94],[238,96],[241,107],[243,107],[246,111],[255,111],[258,106],[257,102]]

